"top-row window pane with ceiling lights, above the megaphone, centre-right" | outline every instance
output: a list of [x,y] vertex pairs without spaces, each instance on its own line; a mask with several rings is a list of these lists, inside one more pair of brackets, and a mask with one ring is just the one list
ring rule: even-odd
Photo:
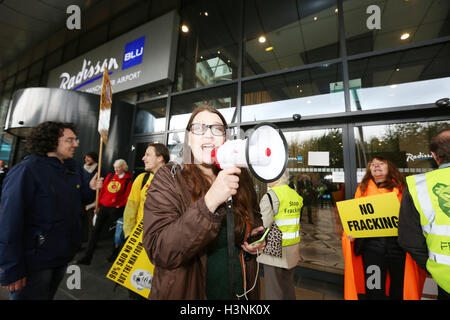
[[244,76],[339,56],[336,1],[245,1]]

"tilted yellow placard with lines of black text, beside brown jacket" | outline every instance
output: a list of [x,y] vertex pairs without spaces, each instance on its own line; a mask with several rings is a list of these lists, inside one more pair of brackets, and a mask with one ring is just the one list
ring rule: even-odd
[[142,246],[142,223],[134,227],[106,278],[148,298],[155,267]]

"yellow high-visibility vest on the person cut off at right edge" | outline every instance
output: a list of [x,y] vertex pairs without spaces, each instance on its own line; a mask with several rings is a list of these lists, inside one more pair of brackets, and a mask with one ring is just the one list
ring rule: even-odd
[[427,270],[450,292],[450,167],[406,178],[428,247]]

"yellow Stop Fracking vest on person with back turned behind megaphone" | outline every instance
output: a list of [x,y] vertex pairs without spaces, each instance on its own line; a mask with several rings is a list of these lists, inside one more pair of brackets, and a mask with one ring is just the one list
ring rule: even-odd
[[280,201],[274,221],[283,233],[282,245],[285,247],[297,244],[300,242],[300,212],[303,198],[286,184],[271,189]]

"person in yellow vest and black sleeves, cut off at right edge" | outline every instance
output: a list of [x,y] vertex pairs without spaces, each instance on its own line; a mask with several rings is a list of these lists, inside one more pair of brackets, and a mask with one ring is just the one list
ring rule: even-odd
[[406,178],[398,241],[438,285],[438,300],[450,300],[450,129],[430,142],[439,168]]

